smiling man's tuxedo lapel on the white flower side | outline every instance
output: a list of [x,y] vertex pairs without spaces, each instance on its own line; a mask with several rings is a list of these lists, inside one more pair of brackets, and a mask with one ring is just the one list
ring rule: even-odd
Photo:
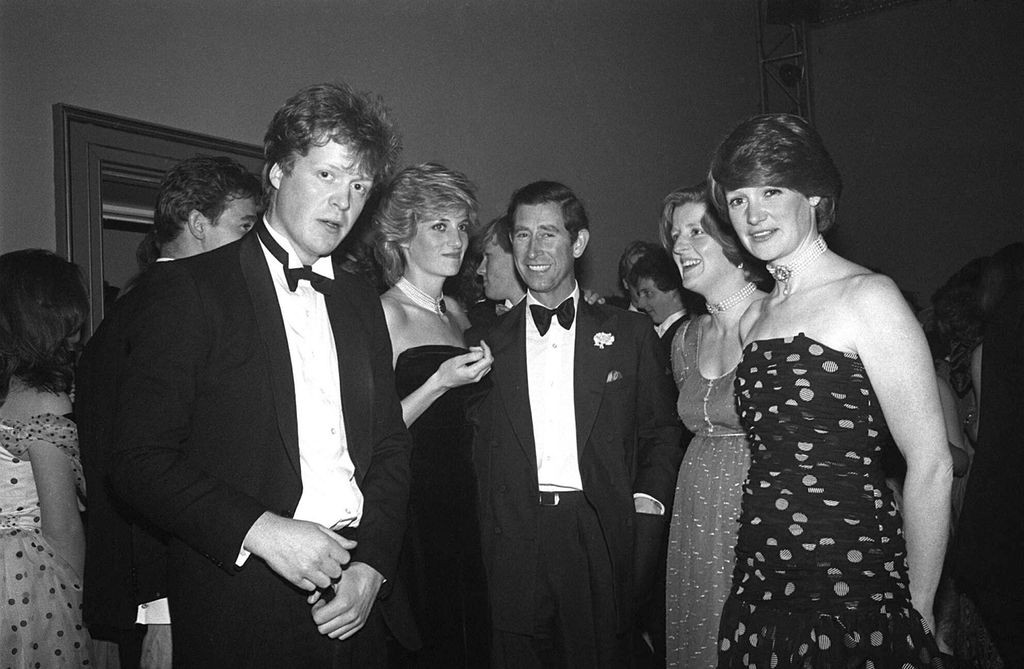
[[[594,429],[597,410],[601,406],[604,387],[607,385],[607,375],[610,351],[607,347],[600,348],[595,344],[594,335],[601,332],[605,322],[600,320],[600,312],[580,300],[577,316],[575,360],[572,371],[572,393],[575,403],[577,418],[577,450],[583,455],[590,433]],[[610,331],[609,331],[610,334]]]

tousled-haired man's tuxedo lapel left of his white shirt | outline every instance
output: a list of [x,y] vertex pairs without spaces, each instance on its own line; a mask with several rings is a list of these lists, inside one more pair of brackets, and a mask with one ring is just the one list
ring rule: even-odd
[[281,316],[281,305],[266,265],[266,256],[256,235],[242,239],[239,250],[242,276],[256,316],[256,327],[263,344],[270,378],[267,382],[273,392],[273,407],[276,412],[278,429],[285,451],[295,472],[301,475],[299,466],[299,427],[295,417],[295,380],[292,376],[292,360],[288,352],[288,336],[285,334],[285,320]]

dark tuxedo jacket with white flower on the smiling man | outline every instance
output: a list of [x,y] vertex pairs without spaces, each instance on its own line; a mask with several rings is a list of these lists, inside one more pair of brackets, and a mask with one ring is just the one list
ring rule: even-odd
[[[493,388],[474,412],[474,459],[480,490],[481,541],[494,626],[530,634],[538,558],[537,449],[529,406],[526,300],[487,332]],[[551,327],[559,327],[554,323]],[[650,320],[582,301],[575,326],[573,393],[580,473],[603,531],[614,582],[616,629],[633,622],[638,565],[652,563],[665,516],[636,513],[633,494],[668,504],[682,459],[672,379]],[[612,341],[613,338],[613,341]],[[601,342],[605,342],[601,347]],[[566,412],[571,411],[566,408]],[[566,413],[566,418],[571,416]]]

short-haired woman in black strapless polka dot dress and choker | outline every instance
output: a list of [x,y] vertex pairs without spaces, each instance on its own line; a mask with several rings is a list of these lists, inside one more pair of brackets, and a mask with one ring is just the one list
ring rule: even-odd
[[[827,249],[841,179],[790,115],[715,153],[715,205],[776,285],[740,320],[751,438],[720,667],[941,667],[932,636],[951,461],[928,345],[888,278]],[[902,517],[885,485],[906,459]]]

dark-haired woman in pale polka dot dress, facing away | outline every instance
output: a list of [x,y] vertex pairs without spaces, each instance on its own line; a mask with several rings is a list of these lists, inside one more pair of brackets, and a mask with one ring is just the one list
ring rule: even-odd
[[88,309],[78,267],[0,256],[0,669],[87,667],[85,484],[68,391]]

